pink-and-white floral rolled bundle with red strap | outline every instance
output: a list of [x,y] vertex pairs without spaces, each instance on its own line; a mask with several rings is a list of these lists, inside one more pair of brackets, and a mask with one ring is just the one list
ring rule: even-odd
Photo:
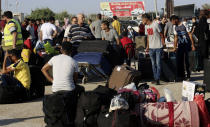
[[141,127],[199,127],[199,111],[195,102],[140,104],[136,110]]

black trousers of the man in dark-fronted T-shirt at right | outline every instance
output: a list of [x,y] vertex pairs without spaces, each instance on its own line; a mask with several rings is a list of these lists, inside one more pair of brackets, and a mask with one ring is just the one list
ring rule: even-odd
[[176,64],[178,78],[185,78],[185,71],[187,76],[190,76],[189,49],[178,48],[176,52]]

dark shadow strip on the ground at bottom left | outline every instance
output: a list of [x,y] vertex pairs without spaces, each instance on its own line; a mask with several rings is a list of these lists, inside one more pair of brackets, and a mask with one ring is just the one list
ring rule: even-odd
[[25,120],[38,119],[38,118],[43,118],[43,117],[44,116],[36,116],[36,117],[29,117],[29,118],[2,119],[0,120],[0,126],[6,126],[13,123],[23,122]]

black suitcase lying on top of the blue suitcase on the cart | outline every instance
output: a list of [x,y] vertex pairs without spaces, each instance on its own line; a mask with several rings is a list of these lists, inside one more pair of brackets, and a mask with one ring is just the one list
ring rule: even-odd
[[78,53],[80,53],[80,52],[105,53],[107,51],[108,45],[109,45],[108,41],[102,41],[102,40],[82,41],[79,43],[79,47],[78,47],[77,51],[78,51]]

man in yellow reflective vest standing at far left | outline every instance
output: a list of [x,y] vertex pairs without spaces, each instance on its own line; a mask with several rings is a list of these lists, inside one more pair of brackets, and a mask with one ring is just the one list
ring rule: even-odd
[[2,44],[4,51],[11,49],[21,50],[23,47],[23,37],[19,22],[13,19],[11,11],[4,12],[3,19],[6,21],[4,41]]

